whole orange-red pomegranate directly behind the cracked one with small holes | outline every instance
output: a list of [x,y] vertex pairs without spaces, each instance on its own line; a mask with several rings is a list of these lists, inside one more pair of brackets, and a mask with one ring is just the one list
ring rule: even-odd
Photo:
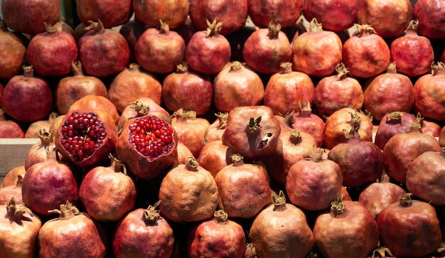
[[264,97],[261,78],[252,70],[235,61],[225,66],[213,80],[213,101],[221,112],[235,107],[257,106]]

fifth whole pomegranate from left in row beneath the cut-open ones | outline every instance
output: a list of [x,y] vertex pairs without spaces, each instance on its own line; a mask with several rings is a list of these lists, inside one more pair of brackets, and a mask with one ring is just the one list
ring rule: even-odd
[[305,210],[323,210],[341,193],[341,168],[323,159],[323,149],[315,149],[291,168],[286,177],[286,190],[291,203]]

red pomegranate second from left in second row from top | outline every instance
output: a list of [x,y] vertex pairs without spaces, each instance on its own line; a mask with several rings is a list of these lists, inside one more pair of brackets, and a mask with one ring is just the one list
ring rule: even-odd
[[70,33],[47,25],[46,32],[38,33],[29,42],[26,59],[39,75],[60,76],[71,71],[77,52],[77,44]]

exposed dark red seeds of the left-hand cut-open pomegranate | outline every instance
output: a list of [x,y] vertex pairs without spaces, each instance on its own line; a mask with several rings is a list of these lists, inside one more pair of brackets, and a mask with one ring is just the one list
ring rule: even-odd
[[107,137],[104,125],[97,114],[74,112],[60,129],[63,147],[75,161],[91,156]]

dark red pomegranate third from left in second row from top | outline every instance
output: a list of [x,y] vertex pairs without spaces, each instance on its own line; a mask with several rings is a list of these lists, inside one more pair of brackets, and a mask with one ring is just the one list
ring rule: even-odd
[[[79,4],[79,2],[77,2]],[[105,77],[122,72],[130,58],[125,38],[117,31],[105,29],[102,21],[90,22],[79,41],[79,55],[85,71],[93,76]],[[99,54],[98,54],[99,53]]]

